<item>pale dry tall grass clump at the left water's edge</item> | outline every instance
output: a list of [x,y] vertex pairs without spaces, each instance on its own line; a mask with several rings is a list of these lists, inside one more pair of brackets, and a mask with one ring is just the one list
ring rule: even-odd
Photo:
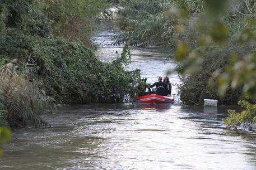
[[55,110],[55,100],[39,89],[38,82],[27,78],[30,72],[18,67],[15,60],[0,68],[0,96],[11,127],[46,127],[49,124],[39,114],[45,109]]

